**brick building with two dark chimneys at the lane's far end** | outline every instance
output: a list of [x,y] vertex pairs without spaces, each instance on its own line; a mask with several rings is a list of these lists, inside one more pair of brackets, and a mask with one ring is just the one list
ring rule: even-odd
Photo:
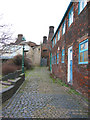
[[43,36],[43,44],[41,44],[41,66],[49,66],[50,69],[50,51],[51,51],[51,38],[54,35],[54,26],[49,26],[48,39]]

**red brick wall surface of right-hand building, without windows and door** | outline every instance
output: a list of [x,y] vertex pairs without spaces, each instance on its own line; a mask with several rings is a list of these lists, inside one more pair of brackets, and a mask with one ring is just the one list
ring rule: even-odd
[[[73,2],[74,18],[73,23],[68,26],[69,10],[65,16],[66,32],[62,35],[62,24],[59,30],[61,30],[60,40],[57,41],[54,48],[52,48],[52,54],[54,55],[59,50],[59,64],[52,65],[52,72],[55,76],[59,77],[62,81],[68,84],[68,48],[72,46],[73,50],[73,84],[72,86],[83,94],[88,92],[88,64],[78,64],[79,56],[79,43],[88,38],[88,5],[78,15],[78,2]],[[72,6],[71,6],[72,7]],[[56,36],[58,31],[56,33]],[[53,38],[54,39],[54,38]],[[62,49],[65,48],[64,63],[61,62]],[[57,59],[57,58],[56,58]]]

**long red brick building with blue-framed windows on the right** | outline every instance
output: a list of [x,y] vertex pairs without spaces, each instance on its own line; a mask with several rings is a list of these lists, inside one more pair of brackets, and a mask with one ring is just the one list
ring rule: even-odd
[[90,2],[70,2],[51,42],[52,73],[88,94]]

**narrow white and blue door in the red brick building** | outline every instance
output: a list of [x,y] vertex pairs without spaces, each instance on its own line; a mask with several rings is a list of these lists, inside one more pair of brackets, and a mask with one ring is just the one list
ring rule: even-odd
[[68,83],[73,82],[73,69],[72,69],[72,46],[68,48]]

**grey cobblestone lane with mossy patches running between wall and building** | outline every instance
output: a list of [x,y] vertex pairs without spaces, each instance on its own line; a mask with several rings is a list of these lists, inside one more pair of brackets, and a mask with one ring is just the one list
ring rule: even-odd
[[5,118],[87,118],[86,105],[53,83],[46,67],[30,71],[20,90],[3,106]]

